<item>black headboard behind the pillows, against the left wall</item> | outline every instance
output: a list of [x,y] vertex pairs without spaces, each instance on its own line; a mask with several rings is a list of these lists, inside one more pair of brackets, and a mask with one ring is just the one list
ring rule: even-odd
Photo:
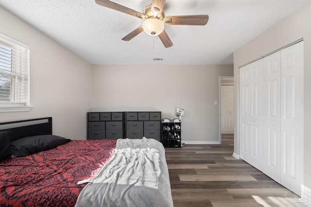
[[3,122],[0,131],[11,131],[11,142],[23,137],[52,134],[52,117]]

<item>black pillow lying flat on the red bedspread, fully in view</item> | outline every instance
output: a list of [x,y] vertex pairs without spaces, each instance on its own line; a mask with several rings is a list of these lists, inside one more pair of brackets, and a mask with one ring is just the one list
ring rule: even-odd
[[15,157],[24,157],[46,151],[71,140],[55,135],[38,135],[25,137],[11,142],[11,153]]

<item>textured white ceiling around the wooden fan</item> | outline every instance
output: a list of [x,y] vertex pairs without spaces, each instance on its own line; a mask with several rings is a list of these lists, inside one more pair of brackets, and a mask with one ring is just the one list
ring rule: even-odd
[[[152,0],[112,0],[143,13]],[[0,0],[0,6],[91,64],[233,64],[233,51],[311,0],[166,0],[165,16],[209,15],[206,26],[165,26],[173,47],[144,32],[141,19],[95,0]],[[163,61],[154,61],[163,58]]]

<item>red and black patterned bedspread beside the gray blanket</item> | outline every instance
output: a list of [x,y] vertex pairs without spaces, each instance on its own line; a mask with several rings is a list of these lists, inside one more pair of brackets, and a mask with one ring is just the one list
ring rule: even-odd
[[111,158],[116,140],[72,140],[54,149],[0,161],[0,207],[74,207]]

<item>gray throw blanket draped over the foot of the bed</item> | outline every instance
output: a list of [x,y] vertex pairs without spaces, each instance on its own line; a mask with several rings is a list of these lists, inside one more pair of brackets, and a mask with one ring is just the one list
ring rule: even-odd
[[154,139],[120,139],[115,154],[75,207],[173,207],[165,150]]

